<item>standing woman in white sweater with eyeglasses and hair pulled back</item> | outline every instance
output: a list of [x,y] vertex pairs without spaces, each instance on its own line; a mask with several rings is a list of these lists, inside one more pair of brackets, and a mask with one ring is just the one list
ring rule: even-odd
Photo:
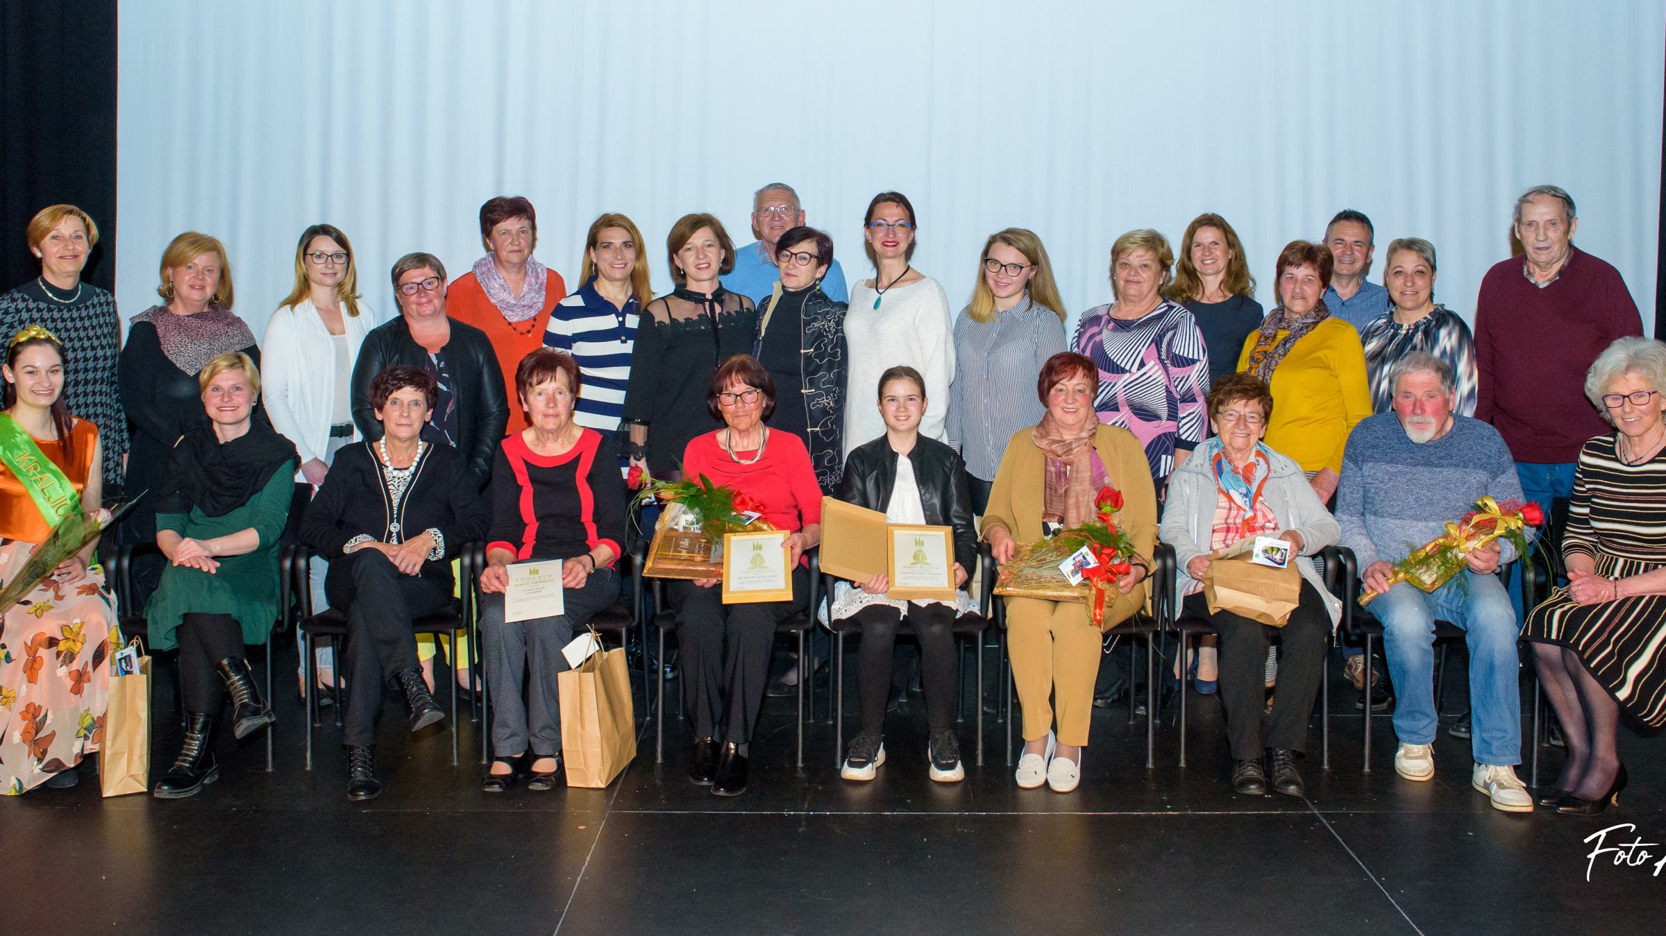
[[[886,368],[906,365],[926,378],[926,398],[948,400],[955,380],[955,328],[943,286],[915,270],[918,223],[901,192],[881,192],[863,215],[863,250],[875,276],[850,291],[845,341],[850,345],[846,386],[875,386]],[[845,455],[885,433],[878,408],[845,408]],[[920,435],[948,441],[943,413],[926,413]]]

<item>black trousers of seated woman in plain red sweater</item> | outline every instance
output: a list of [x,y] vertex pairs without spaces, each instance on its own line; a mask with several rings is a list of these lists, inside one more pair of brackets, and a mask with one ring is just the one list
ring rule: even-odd
[[725,605],[723,588],[671,585],[683,704],[696,738],[745,744],[763,708],[775,626],[810,605],[810,571],[793,570],[793,600]]

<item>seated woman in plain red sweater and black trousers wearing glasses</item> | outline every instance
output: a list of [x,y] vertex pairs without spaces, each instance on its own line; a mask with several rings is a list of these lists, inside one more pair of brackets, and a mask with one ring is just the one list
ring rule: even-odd
[[763,520],[791,531],[793,551],[791,601],[725,605],[715,578],[671,586],[683,700],[695,719],[688,778],[710,783],[718,796],[738,796],[746,789],[746,743],[763,708],[775,625],[808,603],[803,555],[821,540],[821,485],[805,441],[763,425],[775,410],[775,380],[758,358],[723,361],[706,388],[706,408],[725,426],[688,441],[683,476],[706,476],[763,505]]

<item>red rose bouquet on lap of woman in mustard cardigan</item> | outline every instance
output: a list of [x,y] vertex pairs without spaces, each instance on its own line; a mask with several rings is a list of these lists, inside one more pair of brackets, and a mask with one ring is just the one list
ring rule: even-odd
[[[1133,571],[1135,543],[1113,520],[1123,508],[1121,491],[1100,488],[1093,506],[1098,508],[1093,520],[1018,546],[1011,561],[1001,566],[995,593],[1008,598],[1081,601],[1088,605],[1093,625],[1103,626],[1105,591],[1116,586],[1118,576]],[[1081,581],[1071,585],[1060,566],[1083,546],[1091,553],[1095,565],[1083,568]]]

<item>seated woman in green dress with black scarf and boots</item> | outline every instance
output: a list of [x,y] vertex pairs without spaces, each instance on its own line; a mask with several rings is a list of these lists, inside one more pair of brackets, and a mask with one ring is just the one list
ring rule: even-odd
[[145,616],[157,650],[180,648],[185,743],[153,793],[192,796],[220,776],[215,723],[232,696],[242,739],[272,723],[248,671],[245,643],[265,643],[278,616],[278,536],[288,518],[295,445],[253,420],[260,371],[242,351],[197,375],[208,425],[168,455],[157,493],[157,546],[168,558]]

